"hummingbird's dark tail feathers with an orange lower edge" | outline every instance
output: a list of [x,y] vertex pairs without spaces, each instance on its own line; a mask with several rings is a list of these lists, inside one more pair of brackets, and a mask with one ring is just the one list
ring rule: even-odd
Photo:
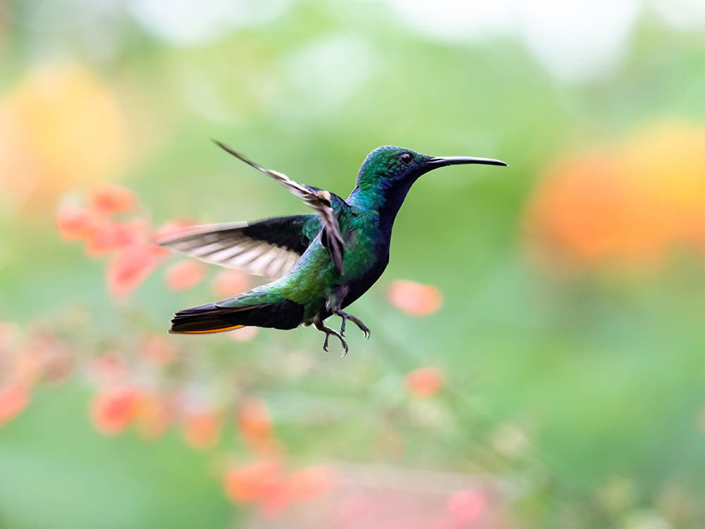
[[176,312],[171,320],[171,333],[201,334],[233,331],[251,325],[293,329],[303,320],[304,308],[290,300],[261,305],[218,307],[215,303],[200,305]]

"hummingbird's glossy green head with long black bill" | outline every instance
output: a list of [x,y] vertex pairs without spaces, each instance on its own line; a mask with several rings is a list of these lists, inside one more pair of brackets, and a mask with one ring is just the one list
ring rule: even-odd
[[367,158],[364,159],[360,167],[360,173],[357,174],[357,187],[361,190],[366,188],[385,191],[398,189],[403,190],[403,193],[406,194],[411,184],[422,174],[439,167],[460,164],[507,165],[491,158],[436,157],[403,147],[386,145],[367,154]]

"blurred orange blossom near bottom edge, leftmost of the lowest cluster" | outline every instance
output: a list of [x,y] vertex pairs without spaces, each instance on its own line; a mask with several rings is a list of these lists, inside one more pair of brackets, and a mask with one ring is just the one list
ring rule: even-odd
[[281,490],[282,482],[278,461],[263,459],[228,470],[223,486],[230,501],[245,504],[260,500],[274,490]]

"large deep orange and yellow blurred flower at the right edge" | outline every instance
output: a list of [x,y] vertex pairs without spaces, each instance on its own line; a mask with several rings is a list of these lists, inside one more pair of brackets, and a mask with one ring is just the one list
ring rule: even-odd
[[653,265],[705,248],[705,128],[656,123],[610,150],[556,164],[527,208],[529,238],[552,264]]

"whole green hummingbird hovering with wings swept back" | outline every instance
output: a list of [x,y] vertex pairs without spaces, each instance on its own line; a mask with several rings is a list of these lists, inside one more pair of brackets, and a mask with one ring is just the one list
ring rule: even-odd
[[[360,318],[343,309],[384,272],[394,219],[417,178],[447,165],[507,165],[489,158],[432,157],[403,147],[379,147],[364,159],[355,189],[343,200],[264,169],[221,142],[216,144],[283,183],[315,214],[197,226],[157,241],[205,262],[274,279],[238,296],[176,312],[169,332],[202,334],[248,325],[294,329],[313,324],[326,334],[324,351],[332,335],[341,341],[343,355],[348,353],[343,339],[348,320],[365,338],[370,334]],[[343,320],[340,332],[324,324],[331,315]]]

